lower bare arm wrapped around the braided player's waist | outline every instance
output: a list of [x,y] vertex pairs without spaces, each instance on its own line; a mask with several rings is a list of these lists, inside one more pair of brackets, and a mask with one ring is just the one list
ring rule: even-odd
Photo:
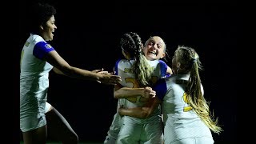
[[159,100],[158,97],[154,97],[150,98],[150,100],[146,102],[145,106],[142,107],[124,108],[121,106],[118,109],[118,113],[120,115],[126,115],[134,118],[148,118],[160,103],[161,100]]

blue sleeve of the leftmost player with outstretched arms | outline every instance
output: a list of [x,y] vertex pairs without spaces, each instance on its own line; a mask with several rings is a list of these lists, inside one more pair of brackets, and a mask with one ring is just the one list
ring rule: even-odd
[[52,50],[54,50],[54,48],[50,46],[50,44],[48,44],[47,42],[38,42],[34,46],[33,55],[36,58],[42,59]]

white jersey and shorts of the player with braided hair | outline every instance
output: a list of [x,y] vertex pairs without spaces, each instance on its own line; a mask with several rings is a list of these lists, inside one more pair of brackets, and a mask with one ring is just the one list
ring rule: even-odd
[[[154,68],[151,75],[153,83],[157,82],[159,78],[166,76],[167,66],[161,60],[148,61],[150,66]],[[122,78],[120,84],[125,87],[138,88],[138,82],[135,75],[131,73],[134,60],[120,60],[116,62],[115,72]],[[135,98],[119,98],[118,104],[124,105],[127,108],[143,106],[145,98],[140,95]],[[120,128],[116,143],[130,144],[130,143],[148,143],[160,144],[162,143],[162,118],[161,108],[154,110],[154,114],[150,118],[132,118],[129,116],[122,117],[122,126]]]

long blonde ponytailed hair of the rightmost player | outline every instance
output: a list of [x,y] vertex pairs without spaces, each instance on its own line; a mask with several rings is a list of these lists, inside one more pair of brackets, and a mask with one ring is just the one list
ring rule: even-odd
[[198,70],[202,70],[202,64],[198,54],[191,47],[178,46],[174,55],[177,58],[177,62],[180,62],[186,72],[190,73],[189,82],[186,85],[188,104],[210,130],[219,134],[222,128],[218,126],[218,118],[214,119],[214,114],[211,114],[209,110],[209,102],[206,102],[202,95],[201,79],[198,72]]

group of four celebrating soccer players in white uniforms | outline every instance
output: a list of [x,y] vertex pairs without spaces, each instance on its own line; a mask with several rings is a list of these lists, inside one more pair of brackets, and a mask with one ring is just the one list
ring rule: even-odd
[[218,118],[210,114],[199,75],[199,55],[178,46],[166,64],[166,44],[152,36],[143,44],[133,32],[120,38],[123,57],[114,72],[70,66],[47,41],[52,41],[56,10],[48,4],[34,8],[31,34],[22,49],[20,129],[25,144],[45,144],[47,135],[62,143],[78,143],[66,119],[47,102],[49,73],[114,85],[118,106],[104,144],[210,144],[219,134]]

